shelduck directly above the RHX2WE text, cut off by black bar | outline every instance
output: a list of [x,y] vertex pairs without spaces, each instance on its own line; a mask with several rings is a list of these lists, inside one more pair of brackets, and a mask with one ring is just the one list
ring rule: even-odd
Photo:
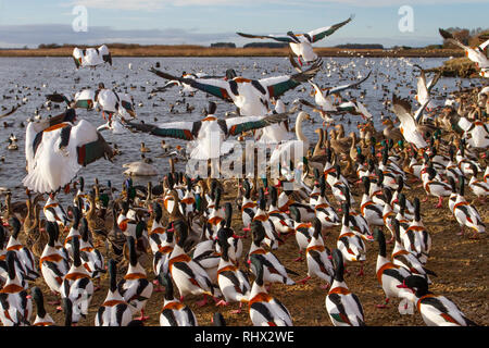
[[250,265],[256,278],[253,282],[248,302],[251,322],[254,326],[292,326],[288,309],[276,298],[268,295],[264,286],[263,259],[250,256]]

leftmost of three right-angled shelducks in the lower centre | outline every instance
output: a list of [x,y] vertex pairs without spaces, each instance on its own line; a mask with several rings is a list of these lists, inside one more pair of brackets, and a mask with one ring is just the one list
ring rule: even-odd
[[[210,295],[221,296],[221,290],[216,284],[212,284],[205,270],[196,261],[193,261],[184,250],[184,245],[188,236],[188,226],[185,222],[178,220],[173,223],[173,228],[177,236],[175,245],[168,260],[168,269],[173,281],[175,282],[180,300],[188,294],[191,295]],[[204,301],[198,303],[202,307]]]

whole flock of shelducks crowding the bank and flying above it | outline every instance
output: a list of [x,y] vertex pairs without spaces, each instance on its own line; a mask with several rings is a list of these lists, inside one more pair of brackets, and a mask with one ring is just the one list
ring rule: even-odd
[[[238,76],[234,70],[224,76],[186,72],[174,76],[150,70],[168,80],[152,95],[172,86],[179,86],[187,96],[204,91],[236,107],[226,117],[217,115],[217,104],[211,101],[199,121],[137,122],[134,99],[103,84],[96,90],[82,90],[73,100],[63,94],[48,95],[50,104],[65,103],[66,111],[35,117],[26,125],[27,175],[23,184],[28,198],[13,202],[12,192],[7,191],[1,216],[2,324],[55,324],[45,309],[41,289],[30,287],[42,278],[59,298],[64,324],[76,325],[87,318],[95,291],[101,290],[102,274],[109,273],[106,298],[95,316],[97,326],[141,325],[148,319],[148,300],[163,288],[162,326],[198,325],[192,309],[185,303],[188,296],[203,296],[197,306],[205,306],[210,299],[223,307],[237,302],[236,312],[242,311],[244,303],[253,325],[292,325],[291,313],[273,296],[271,285],[305,284],[313,277],[324,282],[325,308],[334,325],[365,325],[362,303],[343,274],[347,264],[359,264],[359,276],[363,275],[366,245],[375,241],[376,277],[386,296],[379,308],[396,298],[401,314],[413,314],[416,309],[427,325],[476,325],[450,299],[429,290],[436,276],[427,268],[431,236],[423,223],[419,198],[409,200],[403,190],[421,182],[424,202],[435,197],[439,209],[443,198],[448,199],[461,235],[466,234],[465,228],[471,238],[485,234],[484,216],[464,194],[467,187],[485,200],[489,192],[489,169],[484,162],[489,147],[489,90],[471,96],[477,98],[477,108],[465,98],[447,99],[437,105],[431,92],[440,76],[427,82],[425,71],[415,66],[419,75],[414,99],[419,108],[412,111],[409,99],[393,94],[387,107],[397,121],[383,116],[385,128],[377,130],[374,115],[360,100],[344,100],[340,95],[359,88],[371,74],[338,87],[321,88],[314,83],[323,62],[312,44],[351,20],[306,34],[239,34],[290,42],[299,62],[290,57],[297,71],[291,75],[252,79]],[[486,46],[487,41],[482,50]],[[112,64],[106,46],[75,49],[74,60],[77,69]],[[481,76],[487,77],[486,67],[480,65]],[[299,98],[287,110],[280,97],[304,83],[313,88],[314,103]],[[186,107],[188,110],[189,104]],[[302,132],[302,123],[312,120],[303,108],[318,113],[326,126],[315,130],[318,141],[314,147]],[[97,128],[78,120],[76,109],[102,110],[108,123]],[[13,112],[15,109],[1,117]],[[288,119],[296,112],[294,132],[290,132]],[[338,117],[344,120],[347,113],[361,116],[360,136],[354,132],[346,136]],[[110,181],[103,185],[97,179],[87,190],[84,178],[75,178],[79,170],[117,156],[102,129],[176,138],[189,146],[167,153],[170,171],[158,185],[134,185],[129,177],[117,195]],[[256,142],[274,145],[268,170],[278,169],[278,176],[255,175],[256,164],[253,172],[242,173],[243,178],[226,181],[175,171],[177,160],[193,159],[204,161],[205,174],[218,174],[213,160],[231,152],[235,142],[229,138],[235,136],[238,140],[252,136]],[[16,146],[15,136],[9,141]],[[164,140],[162,148],[171,152]],[[145,157],[148,151],[141,142],[142,161],[127,174],[137,175],[145,169],[142,164],[150,165],[151,160]],[[297,161],[284,156],[290,152],[297,152],[291,157]],[[146,175],[142,172],[139,174]],[[356,185],[363,191],[360,201],[352,194]],[[222,202],[224,196],[233,196],[231,189],[236,198]],[[66,209],[58,200],[62,194],[71,200]],[[45,200],[42,219],[40,202]],[[242,228],[233,227],[233,217]],[[243,238],[249,234],[252,241],[244,250]],[[324,241],[329,234],[337,237],[333,250]],[[305,259],[308,265],[306,277],[300,281],[291,278],[291,274],[299,274],[277,257],[286,243],[293,243],[289,237],[294,237],[299,249],[296,261]],[[394,244],[390,256],[389,243]],[[117,269],[125,270],[121,279]],[[34,320],[33,299],[37,309]],[[224,323],[223,316],[217,314],[215,322]]]

